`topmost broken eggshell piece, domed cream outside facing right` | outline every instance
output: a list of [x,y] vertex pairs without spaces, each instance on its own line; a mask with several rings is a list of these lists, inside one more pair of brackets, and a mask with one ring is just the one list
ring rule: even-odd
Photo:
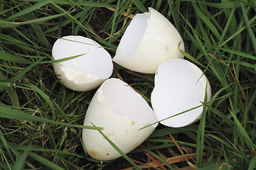
[[179,48],[184,51],[185,47],[176,28],[149,8],[149,13],[139,13],[129,23],[113,61],[132,71],[155,74],[161,62],[183,58]]

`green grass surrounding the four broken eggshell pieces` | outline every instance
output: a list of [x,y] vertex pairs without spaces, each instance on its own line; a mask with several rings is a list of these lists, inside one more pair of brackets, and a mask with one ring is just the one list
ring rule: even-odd
[[[64,35],[83,35],[114,56],[129,17],[149,6],[181,33],[185,59],[205,72],[213,98],[198,123],[159,125],[127,157],[98,162],[81,145],[95,90],[60,84],[51,48]],[[131,162],[135,169],[255,169],[255,7],[253,0],[0,0],[0,169],[126,169]],[[112,77],[150,101],[154,75],[115,67]]]

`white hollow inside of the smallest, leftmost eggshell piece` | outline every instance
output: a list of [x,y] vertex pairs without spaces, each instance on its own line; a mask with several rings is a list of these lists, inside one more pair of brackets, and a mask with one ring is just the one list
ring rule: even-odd
[[90,38],[80,35],[64,36],[55,41],[52,53],[54,60],[74,57],[59,63],[77,72],[92,74],[100,79],[107,79],[112,74],[112,57],[104,47]]

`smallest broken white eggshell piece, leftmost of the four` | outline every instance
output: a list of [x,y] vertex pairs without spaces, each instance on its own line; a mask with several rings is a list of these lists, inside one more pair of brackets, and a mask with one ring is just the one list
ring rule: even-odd
[[58,39],[53,45],[54,60],[76,57],[53,63],[60,82],[74,91],[90,91],[100,86],[112,74],[110,54],[94,40],[69,35]]

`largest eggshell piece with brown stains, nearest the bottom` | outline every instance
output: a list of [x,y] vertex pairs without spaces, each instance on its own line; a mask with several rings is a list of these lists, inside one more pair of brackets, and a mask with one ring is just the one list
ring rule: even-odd
[[[102,127],[102,132],[125,154],[138,147],[156,128],[154,111],[132,87],[119,79],[107,79],[93,96],[84,125]],[[139,130],[140,128],[144,128]],[[121,157],[97,130],[82,130],[86,152],[107,161]]]

